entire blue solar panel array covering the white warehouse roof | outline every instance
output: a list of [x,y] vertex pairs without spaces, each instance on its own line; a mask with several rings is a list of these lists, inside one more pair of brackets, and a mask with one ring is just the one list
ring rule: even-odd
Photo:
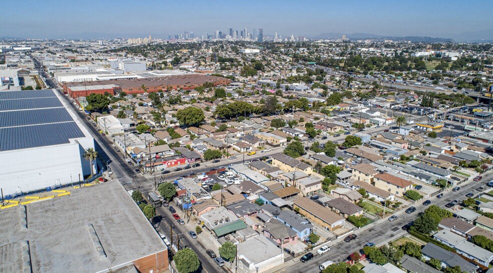
[[0,151],[64,144],[84,136],[52,90],[0,92]]

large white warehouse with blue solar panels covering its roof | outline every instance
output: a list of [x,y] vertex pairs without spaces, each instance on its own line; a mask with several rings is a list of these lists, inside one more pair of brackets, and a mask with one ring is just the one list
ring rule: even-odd
[[0,91],[4,195],[77,182],[91,173],[83,154],[94,148],[94,138],[67,106],[56,90]]

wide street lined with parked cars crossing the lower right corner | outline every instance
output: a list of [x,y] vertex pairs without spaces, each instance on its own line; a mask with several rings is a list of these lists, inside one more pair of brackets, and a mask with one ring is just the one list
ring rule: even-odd
[[[431,204],[445,208],[444,205],[454,199],[459,201],[465,199],[465,194],[468,192],[472,192],[474,195],[479,194],[480,192],[475,190],[475,188],[479,185],[484,186],[491,179],[493,179],[493,173],[488,171],[487,174],[483,174],[483,179],[481,181],[475,182],[471,178],[469,181],[460,184],[460,190],[458,191],[451,191],[449,187],[446,191],[444,191],[443,197],[436,198],[435,196],[432,196],[428,199],[431,200]],[[486,186],[485,191],[489,190],[490,188]],[[398,218],[394,221],[388,221],[387,218],[378,220],[368,226],[365,226],[364,228],[361,228],[360,230],[356,230],[354,232],[358,235],[356,239],[351,240],[350,242],[345,242],[342,238],[339,238],[332,242],[332,245],[329,243],[329,246],[331,246],[329,252],[323,255],[315,254],[314,258],[306,263],[297,261],[294,265],[281,270],[281,272],[316,272],[318,270],[318,266],[327,260],[332,260],[334,262],[346,261],[351,253],[359,251],[367,242],[371,241],[376,243],[377,246],[380,246],[385,244],[392,237],[398,238],[399,235],[406,233],[406,231],[402,229],[402,226],[415,219],[417,217],[417,213],[426,209],[427,206],[422,205],[423,201],[424,199],[416,203],[415,212],[408,214],[401,210],[396,213]],[[390,216],[390,214],[386,215],[386,217],[388,216]],[[318,247],[314,248],[312,253],[315,253],[317,249]]]

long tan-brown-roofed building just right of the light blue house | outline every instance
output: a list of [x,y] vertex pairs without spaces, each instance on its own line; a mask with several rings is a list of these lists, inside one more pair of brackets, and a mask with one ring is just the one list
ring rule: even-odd
[[294,200],[293,208],[297,209],[301,215],[330,231],[344,227],[345,218],[343,216],[307,197],[299,197]]

